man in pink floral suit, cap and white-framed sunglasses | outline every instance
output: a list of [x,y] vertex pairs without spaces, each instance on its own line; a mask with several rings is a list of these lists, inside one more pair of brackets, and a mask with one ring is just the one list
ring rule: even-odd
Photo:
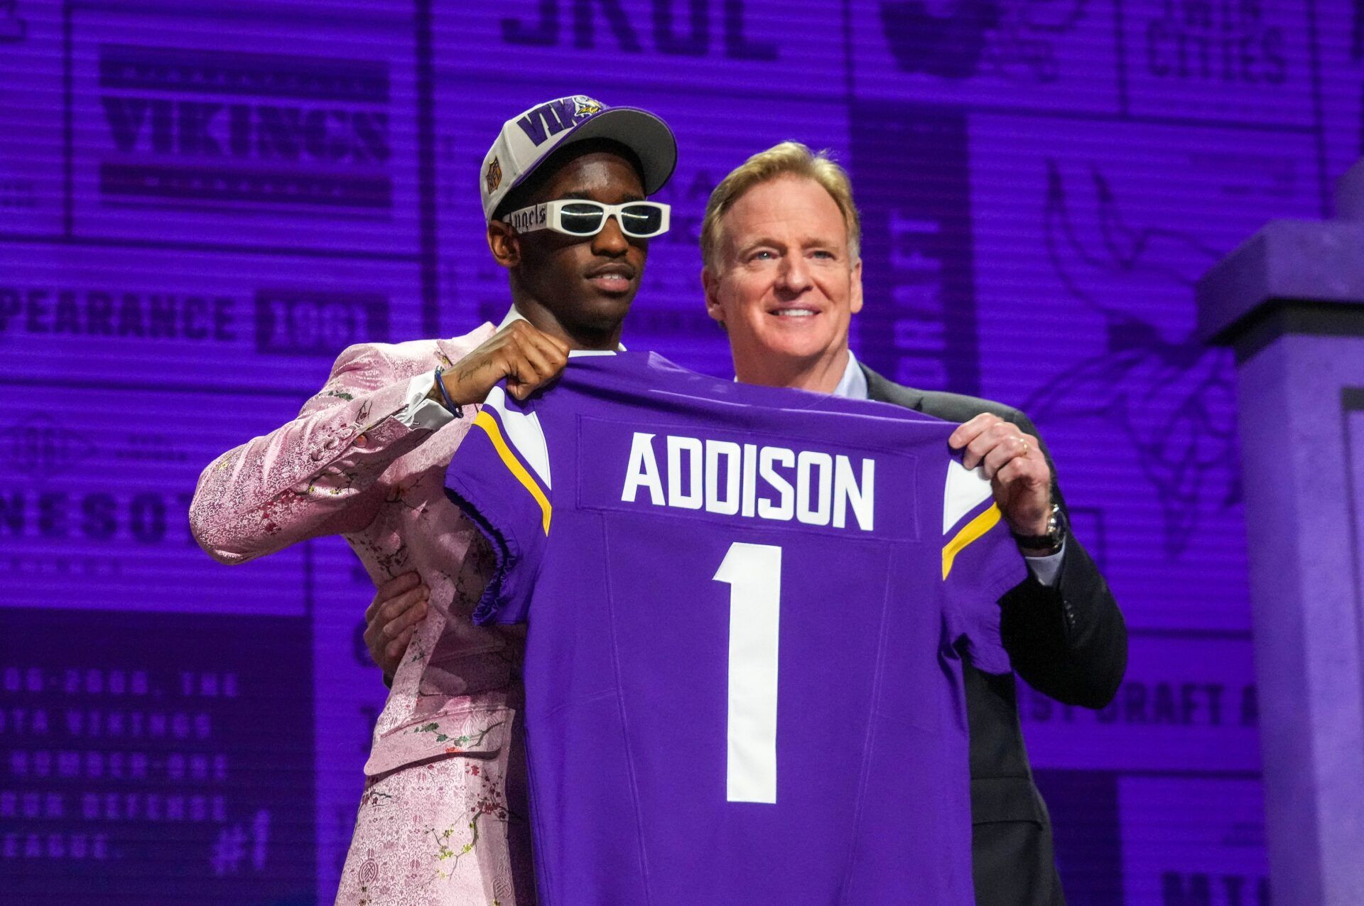
[[617,348],[648,236],[667,229],[666,206],[645,198],[675,161],[662,120],[582,96],[507,120],[480,192],[520,318],[450,340],[351,347],[297,419],[199,479],[191,527],[222,562],[341,534],[375,584],[426,583],[394,628],[393,648],[409,654],[375,726],[338,903],[533,902],[510,731],[521,639],[471,622],[483,549],[445,495],[445,469],[471,404],[495,383],[524,397],[570,349]]

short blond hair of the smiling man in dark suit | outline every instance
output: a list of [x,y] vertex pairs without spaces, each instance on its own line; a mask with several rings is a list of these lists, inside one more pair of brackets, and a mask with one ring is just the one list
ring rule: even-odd
[[812,179],[824,187],[843,214],[843,225],[848,232],[848,261],[858,259],[862,251],[862,220],[853,203],[853,183],[847,171],[829,157],[828,149],[816,153],[801,142],[782,142],[739,164],[711,192],[711,199],[705,203],[705,218],[701,221],[701,261],[707,270],[716,272],[715,258],[724,211],[734,207],[750,188],[783,176]]

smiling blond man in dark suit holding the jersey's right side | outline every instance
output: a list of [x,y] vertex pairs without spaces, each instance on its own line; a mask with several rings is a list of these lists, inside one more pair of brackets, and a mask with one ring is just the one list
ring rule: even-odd
[[[1030,685],[1067,704],[1105,705],[1127,663],[1123,617],[1093,559],[1068,538],[1065,506],[1037,430],[1018,409],[903,388],[858,363],[848,327],[861,311],[861,227],[847,175],[784,142],[753,156],[712,192],[702,222],[707,310],[726,330],[739,381],[903,405],[960,422],[951,442],[982,465],[1031,577],[1001,600],[1003,634]],[[383,664],[404,625],[405,583],[381,588],[367,640]],[[1012,675],[966,667],[977,902],[1064,903],[1052,832],[1033,783]],[[914,816],[907,815],[907,821]]]

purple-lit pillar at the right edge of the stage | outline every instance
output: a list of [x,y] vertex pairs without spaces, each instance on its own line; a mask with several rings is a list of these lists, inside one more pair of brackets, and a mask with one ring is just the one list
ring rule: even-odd
[[1274,902],[1364,903],[1364,160],[1198,287],[1236,351]]

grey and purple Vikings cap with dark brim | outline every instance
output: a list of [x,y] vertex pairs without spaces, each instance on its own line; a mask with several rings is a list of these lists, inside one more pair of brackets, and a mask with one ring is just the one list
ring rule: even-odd
[[561,147],[589,138],[608,138],[625,145],[644,168],[644,194],[663,188],[678,162],[678,142],[668,124],[633,106],[607,106],[584,94],[537,104],[502,124],[498,141],[483,157],[479,194],[483,216],[492,211],[513,188]]

